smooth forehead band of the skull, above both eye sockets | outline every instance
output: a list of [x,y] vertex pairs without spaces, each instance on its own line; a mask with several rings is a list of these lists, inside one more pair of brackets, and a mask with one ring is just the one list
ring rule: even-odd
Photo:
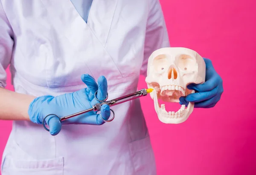
[[177,55],[189,55],[195,58],[197,58],[198,56],[198,54],[192,49],[188,49],[184,47],[168,47],[168,48],[161,48],[154,51],[149,57],[149,62],[151,62],[155,57],[159,55],[165,55],[166,58],[169,58],[169,59],[174,59]]

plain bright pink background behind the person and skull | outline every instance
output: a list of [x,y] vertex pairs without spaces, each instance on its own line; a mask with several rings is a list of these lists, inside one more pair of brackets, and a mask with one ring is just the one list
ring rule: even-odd
[[[150,97],[141,99],[158,175],[255,175],[255,1],[160,1],[171,45],[210,58],[224,93],[214,108],[194,109],[178,125],[161,123]],[[0,154],[10,131],[11,122],[0,121]]]

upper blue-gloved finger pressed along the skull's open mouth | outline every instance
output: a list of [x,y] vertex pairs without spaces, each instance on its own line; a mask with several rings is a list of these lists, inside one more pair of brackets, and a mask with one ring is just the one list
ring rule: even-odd
[[208,81],[204,82],[203,84],[189,84],[187,86],[188,89],[193,89],[196,92],[207,92],[211,91],[212,89],[218,86],[218,76],[211,77]]

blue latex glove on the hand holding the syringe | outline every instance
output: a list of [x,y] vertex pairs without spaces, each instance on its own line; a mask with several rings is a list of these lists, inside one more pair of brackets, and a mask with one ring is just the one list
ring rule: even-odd
[[[87,85],[87,88],[81,89],[73,93],[67,93],[53,97],[45,95],[35,98],[29,106],[29,118],[33,123],[42,124],[45,116],[49,114],[58,115],[60,118],[71,115],[76,112],[91,108],[98,101],[94,98],[96,90],[97,98],[104,100],[108,93],[108,84],[104,76],[99,77],[98,84],[90,75],[82,75],[81,80]],[[65,124],[89,124],[102,125],[104,120],[110,117],[110,107],[102,105],[101,114],[96,112],[87,112],[82,115],[64,120],[60,122],[56,116],[46,118],[46,123],[49,126],[51,135],[57,135],[61,131],[61,125]],[[102,115],[102,118],[100,117]]]

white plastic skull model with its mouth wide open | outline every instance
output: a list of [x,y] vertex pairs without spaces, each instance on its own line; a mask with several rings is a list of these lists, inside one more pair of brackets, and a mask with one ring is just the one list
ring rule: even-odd
[[190,83],[205,82],[206,66],[204,59],[195,51],[187,48],[162,48],[154,51],[148,59],[147,77],[148,88],[154,100],[154,108],[159,120],[163,123],[182,123],[194,109],[194,103],[186,107],[182,105],[177,112],[167,112],[164,102],[177,102],[181,96],[195,93],[186,86]]

